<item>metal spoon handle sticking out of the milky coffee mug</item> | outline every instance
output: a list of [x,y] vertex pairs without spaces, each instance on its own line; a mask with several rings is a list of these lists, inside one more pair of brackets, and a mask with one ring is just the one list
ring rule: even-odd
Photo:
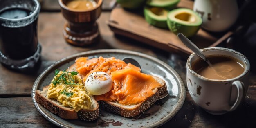
[[208,63],[208,65],[212,67],[211,62],[206,58],[206,56],[204,56],[201,50],[193,42],[191,42],[188,38],[186,38],[186,36],[184,36],[182,33],[178,33],[178,37],[180,38],[182,43],[186,45],[186,47],[191,49],[195,54],[201,57],[206,63]]

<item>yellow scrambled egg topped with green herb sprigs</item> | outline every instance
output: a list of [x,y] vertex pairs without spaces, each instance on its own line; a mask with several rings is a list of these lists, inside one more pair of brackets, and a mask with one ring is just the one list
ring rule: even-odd
[[81,77],[70,72],[59,71],[54,76],[47,97],[56,99],[63,106],[71,107],[76,112],[93,108],[89,92],[85,89]]

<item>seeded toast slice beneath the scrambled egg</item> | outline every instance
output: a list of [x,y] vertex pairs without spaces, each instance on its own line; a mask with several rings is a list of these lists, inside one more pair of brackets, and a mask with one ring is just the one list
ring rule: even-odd
[[[75,69],[72,68],[70,71],[75,71]],[[99,104],[92,95],[89,95],[89,97],[92,99],[93,108],[89,110],[79,110],[76,112],[73,108],[65,107],[55,99],[49,99],[47,97],[47,91],[49,87],[50,85],[47,85],[41,91],[36,90],[35,99],[37,103],[39,103],[50,112],[58,115],[63,119],[81,119],[85,121],[93,121],[99,117]]]

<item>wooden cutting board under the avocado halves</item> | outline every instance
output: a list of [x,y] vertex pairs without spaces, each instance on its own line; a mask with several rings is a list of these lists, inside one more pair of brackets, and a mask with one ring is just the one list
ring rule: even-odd
[[[177,8],[192,9],[193,1],[181,0]],[[115,34],[139,40],[165,51],[182,52],[186,54],[192,53],[174,33],[168,29],[161,29],[149,25],[144,19],[143,14],[139,13],[141,12],[131,12],[121,7],[116,7],[112,10],[107,24]],[[209,46],[215,47],[227,37],[227,34],[225,34],[222,38],[216,38],[207,31],[200,29],[190,40],[202,49]]]

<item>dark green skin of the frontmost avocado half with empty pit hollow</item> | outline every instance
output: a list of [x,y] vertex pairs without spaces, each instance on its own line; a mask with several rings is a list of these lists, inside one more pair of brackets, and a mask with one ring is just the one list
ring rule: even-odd
[[175,21],[170,20],[167,18],[167,25],[168,28],[174,33],[182,33],[186,37],[191,37],[194,36],[198,30],[200,29],[200,26],[186,26],[186,25],[181,25]]

